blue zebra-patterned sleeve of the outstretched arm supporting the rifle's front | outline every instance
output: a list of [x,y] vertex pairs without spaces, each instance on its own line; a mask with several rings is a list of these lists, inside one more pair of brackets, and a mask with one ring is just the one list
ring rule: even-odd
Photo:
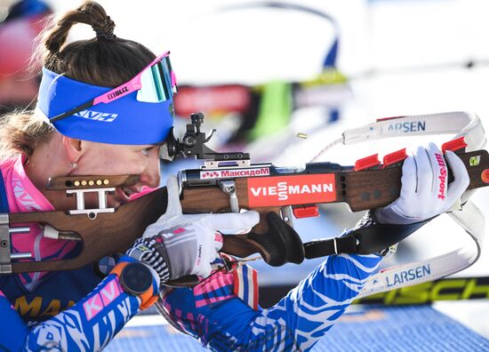
[[[363,219],[357,227],[370,224]],[[269,309],[254,310],[236,296],[188,308],[180,303],[182,292],[167,295],[164,307],[178,326],[213,350],[309,350],[355,300],[380,262],[376,254],[329,256]]]

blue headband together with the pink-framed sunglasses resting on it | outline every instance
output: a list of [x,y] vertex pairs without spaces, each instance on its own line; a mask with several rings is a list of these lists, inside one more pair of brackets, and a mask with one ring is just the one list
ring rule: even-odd
[[170,52],[116,88],[76,81],[43,68],[36,113],[61,134],[108,144],[157,144],[173,124],[177,92]]

